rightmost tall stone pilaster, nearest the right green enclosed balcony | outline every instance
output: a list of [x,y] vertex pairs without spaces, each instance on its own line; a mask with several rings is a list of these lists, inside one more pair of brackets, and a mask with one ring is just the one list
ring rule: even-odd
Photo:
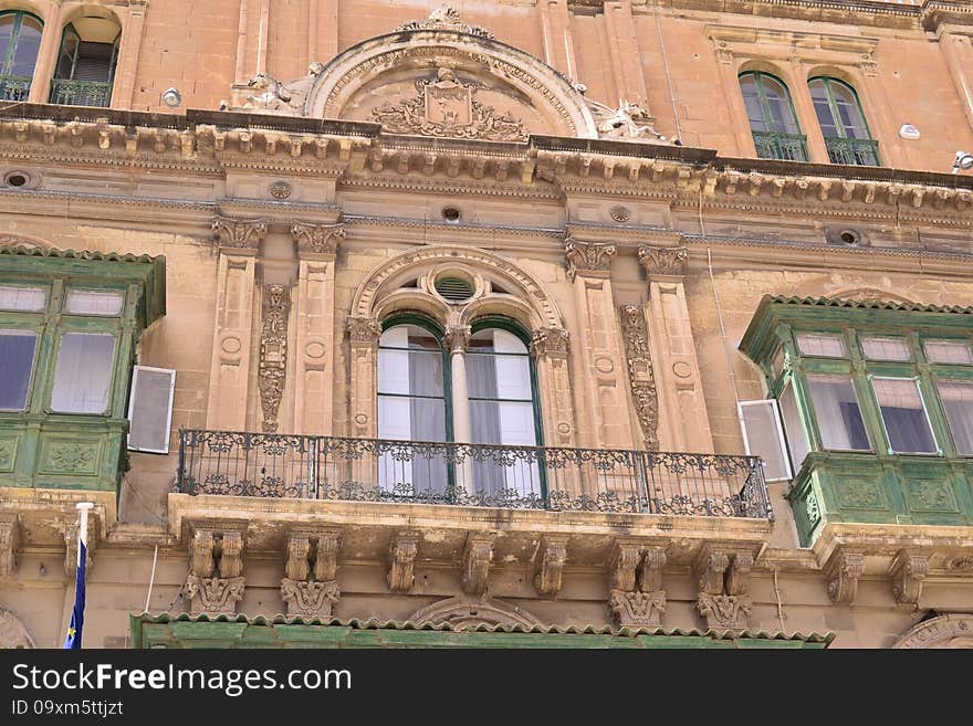
[[713,436],[686,303],[686,248],[639,248],[649,280],[649,348],[659,409],[662,451],[711,453]]

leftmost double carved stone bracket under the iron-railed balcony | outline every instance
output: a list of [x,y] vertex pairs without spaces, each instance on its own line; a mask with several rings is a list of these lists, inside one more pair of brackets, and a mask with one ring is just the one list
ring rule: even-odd
[[234,614],[243,599],[242,527],[195,527],[186,579],[190,614]]

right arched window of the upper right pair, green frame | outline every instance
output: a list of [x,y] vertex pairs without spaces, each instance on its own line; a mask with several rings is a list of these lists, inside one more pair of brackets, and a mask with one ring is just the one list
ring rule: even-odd
[[878,166],[878,141],[871,138],[855,90],[827,77],[812,78],[807,85],[831,164]]

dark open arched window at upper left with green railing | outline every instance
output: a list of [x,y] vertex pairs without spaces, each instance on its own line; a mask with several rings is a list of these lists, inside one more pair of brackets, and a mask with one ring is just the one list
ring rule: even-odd
[[85,17],[69,23],[51,81],[51,103],[111,105],[121,38],[122,28],[108,18]]

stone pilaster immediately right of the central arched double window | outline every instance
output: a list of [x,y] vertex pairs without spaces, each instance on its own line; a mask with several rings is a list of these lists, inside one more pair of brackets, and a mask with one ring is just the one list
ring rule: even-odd
[[564,251],[577,303],[577,355],[587,399],[584,415],[592,422],[582,444],[630,449],[632,432],[619,371],[624,358],[609,272],[615,245],[567,238]]

